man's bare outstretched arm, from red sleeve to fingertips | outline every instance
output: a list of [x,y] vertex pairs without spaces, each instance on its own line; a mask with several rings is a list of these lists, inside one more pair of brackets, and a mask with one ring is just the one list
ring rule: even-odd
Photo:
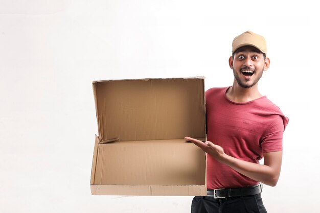
[[191,141],[204,152],[207,152],[219,162],[228,165],[242,175],[270,186],[275,186],[278,182],[281,171],[282,151],[264,153],[264,164],[261,165],[229,156],[223,152],[222,147],[210,141],[203,143],[191,137],[185,137],[185,139]]

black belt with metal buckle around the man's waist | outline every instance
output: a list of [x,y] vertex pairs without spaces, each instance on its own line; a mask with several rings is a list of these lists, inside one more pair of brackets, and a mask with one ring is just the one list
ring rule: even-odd
[[207,196],[214,198],[231,198],[258,195],[262,192],[262,188],[262,183],[244,188],[219,188],[217,190],[207,190]]

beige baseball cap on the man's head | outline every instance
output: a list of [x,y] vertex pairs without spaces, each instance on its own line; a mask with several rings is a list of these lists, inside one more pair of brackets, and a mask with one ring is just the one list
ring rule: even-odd
[[232,53],[241,46],[254,46],[267,55],[267,45],[264,37],[254,32],[246,31],[235,37],[232,42]]

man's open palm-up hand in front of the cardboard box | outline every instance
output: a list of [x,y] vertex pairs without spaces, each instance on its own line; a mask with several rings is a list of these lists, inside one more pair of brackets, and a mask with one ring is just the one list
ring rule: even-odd
[[205,141],[203,143],[201,140],[192,137],[185,137],[185,139],[200,147],[204,152],[207,152],[219,162],[222,162],[225,157],[222,147],[213,144],[211,141]]

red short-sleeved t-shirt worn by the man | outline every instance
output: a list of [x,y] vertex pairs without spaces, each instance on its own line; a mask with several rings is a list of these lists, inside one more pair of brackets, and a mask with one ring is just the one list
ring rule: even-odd
[[[259,163],[263,153],[282,151],[283,131],[288,118],[265,96],[246,103],[226,98],[229,87],[205,92],[207,137],[227,155]],[[207,155],[207,187],[237,188],[257,184]]]

